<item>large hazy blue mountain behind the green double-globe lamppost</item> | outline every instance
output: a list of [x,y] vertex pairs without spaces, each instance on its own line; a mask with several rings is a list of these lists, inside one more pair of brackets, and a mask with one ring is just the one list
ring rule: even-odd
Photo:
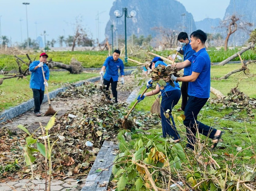
[[154,38],[159,35],[159,28],[175,30],[175,33],[185,31],[188,34],[196,30],[192,14],[176,0],[116,0],[109,12],[110,20],[105,28],[105,36],[109,41],[112,37],[112,24],[117,29],[118,37],[125,36],[124,15],[121,18],[114,15],[115,10],[119,10],[122,15],[123,8],[127,8],[129,16],[132,10],[137,12],[135,17],[126,18],[127,39],[132,34],[137,37],[151,35]]

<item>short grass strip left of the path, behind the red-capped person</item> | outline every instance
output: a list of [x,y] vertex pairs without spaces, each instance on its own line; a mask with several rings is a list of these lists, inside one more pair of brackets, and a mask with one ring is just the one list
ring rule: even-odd
[[[73,83],[95,76],[98,76],[98,73],[70,74],[68,71],[51,71],[48,91],[50,92],[59,87],[62,87],[64,83]],[[3,75],[0,75],[0,78],[2,77]],[[27,76],[27,80],[17,80],[17,78],[11,78],[3,81],[3,84],[0,85],[0,112],[33,98],[33,92],[29,88],[29,80],[30,75]]]

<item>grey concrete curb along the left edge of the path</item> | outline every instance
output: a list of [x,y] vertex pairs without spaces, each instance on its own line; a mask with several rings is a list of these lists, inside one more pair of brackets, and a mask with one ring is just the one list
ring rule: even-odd
[[[132,73],[133,70],[127,70],[125,71],[125,75],[129,75]],[[95,82],[95,81],[98,81],[100,80],[100,77],[93,77],[93,78],[90,78],[88,80],[82,80],[82,81],[79,81],[79,82],[76,82],[76,83],[73,83],[73,85],[75,87],[78,87],[78,86],[81,86],[84,84],[84,82],[88,81],[88,82]],[[54,91],[51,91],[49,92],[49,97],[50,99],[53,99],[57,96],[58,93],[60,92],[64,92],[67,90],[67,87],[62,87],[62,88],[58,88]],[[44,94],[44,100],[43,100],[43,103],[44,102],[47,102],[47,95]],[[34,107],[34,99],[30,99],[26,102],[23,102],[22,104],[18,105],[18,106],[15,106],[15,107],[11,107],[10,109],[8,110],[5,110],[4,112],[0,113],[0,123],[1,122],[5,122],[7,121],[8,119],[12,119],[20,114],[23,114],[24,112],[30,110],[31,108]]]

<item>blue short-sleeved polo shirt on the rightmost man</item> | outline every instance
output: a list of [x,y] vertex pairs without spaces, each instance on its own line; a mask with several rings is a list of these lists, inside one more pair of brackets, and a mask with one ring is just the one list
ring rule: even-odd
[[188,60],[191,62],[190,74],[192,74],[192,72],[200,73],[194,82],[188,83],[188,95],[199,98],[210,97],[211,62],[206,49],[200,49]]

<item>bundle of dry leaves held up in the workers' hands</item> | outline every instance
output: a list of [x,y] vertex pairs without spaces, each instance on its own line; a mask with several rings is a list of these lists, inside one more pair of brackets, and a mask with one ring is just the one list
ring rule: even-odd
[[151,79],[153,82],[157,82],[160,86],[166,86],[166,83],[170,83],[174,87],[174,83],[171,79],[171,75],[177,76],[177,68],[172,66],[165,67],[159,64],[151,72]]

